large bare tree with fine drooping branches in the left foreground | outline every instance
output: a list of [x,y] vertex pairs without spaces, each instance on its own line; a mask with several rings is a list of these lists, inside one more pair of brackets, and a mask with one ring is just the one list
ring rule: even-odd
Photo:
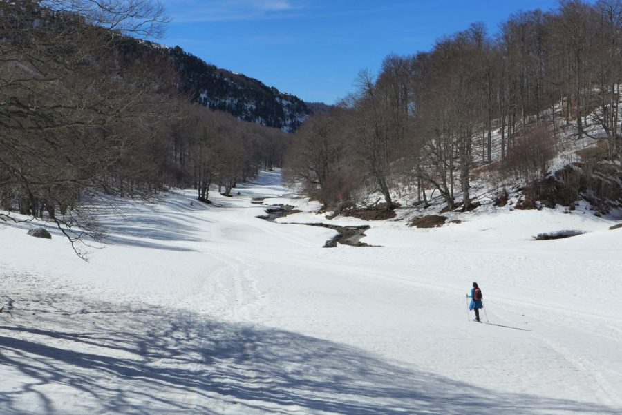
[[151,27],[149,9],[140,15],[136,2],[132,8],[124,1],[88,3],[109,17],[131,9],[135,23],[147,26],[93,26],[62,2],[0,3],[1,199],[10,209],[17,202],[21,213],[45,213],[72,242],[97,229],[76,215],[86,191],[115,193],[130,174],[133,183],[147,179],[145,170],[129,173],[124,160],[137,153],[141,138],[155,136],[150,108],[168,94],[164,79],[174,79],[166,69],[158,74],[158,62],[145,56],[120,59],[120,28]]

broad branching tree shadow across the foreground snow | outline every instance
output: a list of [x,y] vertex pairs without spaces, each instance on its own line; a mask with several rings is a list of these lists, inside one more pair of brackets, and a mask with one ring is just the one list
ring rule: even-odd
[[83,301],[93,313],[44,306],[17,319],[24,327],[0,327],[0,367],[11,376],[0,413],[65,414],[62,400],[74,396],[82,406],[71,413],[622,414],[477,387],[291,331]]

